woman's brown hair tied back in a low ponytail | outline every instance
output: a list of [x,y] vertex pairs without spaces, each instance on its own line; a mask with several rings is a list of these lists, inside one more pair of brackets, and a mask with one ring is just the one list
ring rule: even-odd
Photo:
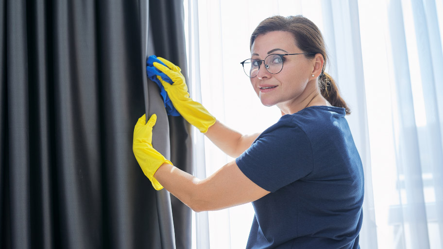
[[318,85],[322,96],[333,106],[343,107],[346,109],[346,114],[351,114],[351,110],[346,105],[346,102],[340,97],[339,88],[332,77],[324,72],[326,66],[327,53],[324,45],[323,35],[319,28],[309,19],[299,16],[273,16],[261,21],[251,35],[250,49],[260,34],[265,34],[272,31],[286,31],[294,35],[295,43],[305,53],[307,58],[313,58],[315,54],[323,55],[324,64],[322,74],[318,79]]

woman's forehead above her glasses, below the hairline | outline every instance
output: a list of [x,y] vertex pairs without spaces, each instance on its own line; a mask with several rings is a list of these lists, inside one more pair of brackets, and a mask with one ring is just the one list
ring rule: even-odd
[[[274,49],[286,50],[289,53],[299,52],[292,33],[287,31],[272,31],[256,37],[251,47],[251,54],[264,56]],[[278,51],[276,52],[278,53]]]

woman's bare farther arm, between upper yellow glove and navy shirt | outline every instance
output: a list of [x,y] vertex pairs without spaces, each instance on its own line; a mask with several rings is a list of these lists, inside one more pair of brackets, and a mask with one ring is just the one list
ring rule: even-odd
[[241,153],[251,146],[252,142],[256,140],[258,135],[260,135],[260,133],[242,135],[241,133],[225,126],[219,120],[209,127],[208,131],[204,134],[218,148],[222,149],[224,153],[233,158],[241,155]]

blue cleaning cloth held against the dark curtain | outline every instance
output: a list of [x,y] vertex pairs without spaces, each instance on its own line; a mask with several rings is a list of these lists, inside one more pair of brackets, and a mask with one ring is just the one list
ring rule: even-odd
[[175,107],[172,105],[172,102],[170,101],[170,98],[168,96],[168,93],[165,91],[165,88],[163,88],[163,85],[161,84],[161,82],[157,79],[157,75],[160,76],[163,81],[172,84],[172,80],[164,73],[162,73],[160,70],[158,70],[157,68],[155,68],[155,66],[153,66],[154,62],[158,62],[164,66],[166,66],[163,62],[161,62],[159,59],[157,59],[157,56],[155,55],[151,55],[148,57],[148,60],[146,61],[146,64],[148,66],[146,66],[146,72],[148,74],[148,78],[155,82],[158,87],[160,87],[160,95],[163,99],[163,102],[165,102],[165,108],[166,108],[166,113],[169,116],[180,116],[180,114],[177,112],[177,110],[175,109]]

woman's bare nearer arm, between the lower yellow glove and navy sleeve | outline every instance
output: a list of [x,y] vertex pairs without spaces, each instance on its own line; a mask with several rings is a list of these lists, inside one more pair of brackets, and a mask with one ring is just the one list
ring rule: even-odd
[[235,161],[200,180],[170,164],[163,164],[155,179],[195,212],[219,210],[248,203],[269,194],[247,178]]

